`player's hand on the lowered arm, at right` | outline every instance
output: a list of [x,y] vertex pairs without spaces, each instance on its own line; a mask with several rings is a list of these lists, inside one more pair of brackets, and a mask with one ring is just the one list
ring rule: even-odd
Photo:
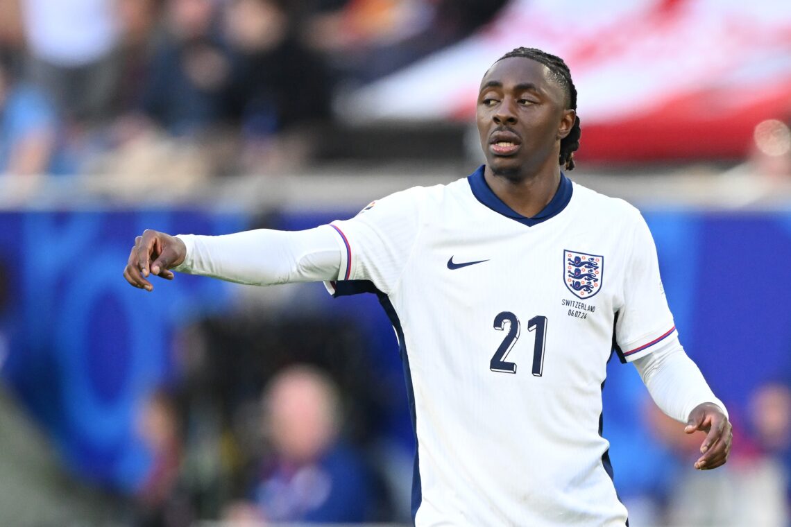
[[725,416],[722,408],[713,403],[703,403],[695,406],[687,420],[687,427],[684,431],[693,434],[694,431],[705,431],[706,439],[700,446],[700,453],[703,454],[695,461],[694,468],[698,470],[716,469],[718,466],[725,465],[728,455],[731,452],[731,442],[733,441],[733,427]]

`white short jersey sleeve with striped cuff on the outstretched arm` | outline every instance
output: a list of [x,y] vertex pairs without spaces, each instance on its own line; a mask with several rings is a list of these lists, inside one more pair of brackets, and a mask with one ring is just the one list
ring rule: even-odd
[[414,187],[391,194],[350,220],[330,224],[342,252],[337,281],[324,283],[331,294],[348,294],[342,292],[343,285],[361,281],[384,293],[392,291],[418,237],[422,190]]

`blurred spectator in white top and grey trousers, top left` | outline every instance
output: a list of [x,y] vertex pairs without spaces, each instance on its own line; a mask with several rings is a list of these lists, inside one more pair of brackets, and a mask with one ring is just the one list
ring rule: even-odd
[[118,86],[115,0],[22,0],[28,76],[69,122],[108,119]]

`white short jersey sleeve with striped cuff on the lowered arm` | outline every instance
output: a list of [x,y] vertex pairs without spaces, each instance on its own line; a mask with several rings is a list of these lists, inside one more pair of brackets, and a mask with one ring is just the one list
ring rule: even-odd
[[622,362],[648,355],[677,336],[659,275],[657,247],[642,216],[637,216],[623,284],[623,307],[615,322],[616,352]]

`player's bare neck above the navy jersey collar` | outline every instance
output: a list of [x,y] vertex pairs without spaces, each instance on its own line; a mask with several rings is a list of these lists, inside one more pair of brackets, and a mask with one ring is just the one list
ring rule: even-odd
[[546,207],[560,185],[560,167],[544,168],[531,175],[495,175],[487,164],[483,171],[486,184],[505,205],[522,216],[536,216]]

